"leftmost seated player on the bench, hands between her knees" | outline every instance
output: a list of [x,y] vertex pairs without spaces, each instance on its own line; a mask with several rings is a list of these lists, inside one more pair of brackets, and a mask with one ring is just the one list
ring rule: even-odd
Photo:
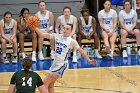
[[13,46],[13,63],[17,63],[17,22],[12,19],[12,13],[7,11],[4,13],[4,18],[0,21],[1,31],[1,50],[4,63],[9,63],[6,56],[6,44],[12,44]]

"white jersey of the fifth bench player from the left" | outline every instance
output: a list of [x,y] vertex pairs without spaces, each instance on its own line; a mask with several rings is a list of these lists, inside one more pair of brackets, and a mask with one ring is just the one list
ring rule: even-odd
[[81,22],[82,22],[82,32],[85,35],[90,34],[93,31],[93,27],[92,27],[92,16],[89,16],[88,19],[88,24],[85,23],[85,20],[83,17],[80,17]]

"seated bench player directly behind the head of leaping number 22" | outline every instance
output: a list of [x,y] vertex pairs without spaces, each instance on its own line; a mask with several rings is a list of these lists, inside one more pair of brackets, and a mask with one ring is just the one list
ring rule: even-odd
[[[76,25],[77,25],[77,18],[73,15],[71,15],[71,8],[70,7],[64,7],[63,8],[63,15],[59,16],[56,21],[56,33],[62,34],[64,31],[64,25],[66,24],[72,24],[73,29],[70,34],[70,36],[76,40]],[[76,57],[76,50],[73,50],[73,61],[77,62]]]

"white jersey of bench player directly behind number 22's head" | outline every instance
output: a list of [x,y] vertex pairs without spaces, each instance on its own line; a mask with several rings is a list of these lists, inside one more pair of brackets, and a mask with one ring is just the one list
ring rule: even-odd
[[61,20],[61,21],[60,21],[60,29],[59,29],[59,31],[60,31],[60,33],[62,34],[63,31],[64,31],[64,26],[65,26],[66,24],[73,24],[73,22],[74,22],[74,16],[73,16],[73,15],[70,15],[69,20],[66,21],[64,15],[61,15],[61,16],[60,16],[60,20]]

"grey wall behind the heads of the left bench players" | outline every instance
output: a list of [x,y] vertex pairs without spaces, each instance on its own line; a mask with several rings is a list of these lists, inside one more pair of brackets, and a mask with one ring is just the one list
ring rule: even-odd
[[[0,0],[0,19],[5,11],[11,11],[13,17],[19,16],[20,10],[24,7],[29,8],[31,15],[34,15],[38,10],[38,2],[40,0]],[[62,14],[63,7],[70,6],[72,14],[80,16],[80,9],[84,4],[84,0],[44,0],[47,3],[47,9],[54,13],[55,19]]]

